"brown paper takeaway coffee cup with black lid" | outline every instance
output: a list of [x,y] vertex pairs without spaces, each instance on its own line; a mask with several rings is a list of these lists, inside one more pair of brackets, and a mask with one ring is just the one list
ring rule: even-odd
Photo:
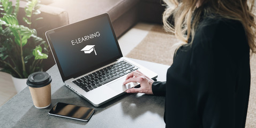
[[47,108],[51,105],[51,76],[43,71],[28,76],[27,85],[36,108]]

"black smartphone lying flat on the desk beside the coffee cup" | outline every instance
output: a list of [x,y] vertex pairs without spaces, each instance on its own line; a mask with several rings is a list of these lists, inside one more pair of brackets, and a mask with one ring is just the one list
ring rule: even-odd
[[88,122],[92,117],[95,109],[70,105],[68,103],[57,102],[49,111],[49,115],[64,118],[76,119],[78,121]]

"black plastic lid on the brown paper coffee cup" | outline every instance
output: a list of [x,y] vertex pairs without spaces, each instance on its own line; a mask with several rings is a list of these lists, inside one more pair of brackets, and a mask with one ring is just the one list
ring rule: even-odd
[[43,87],[51,83],[51,76],[44,71],[32,73],[27,78],[27,85],[31,87]]

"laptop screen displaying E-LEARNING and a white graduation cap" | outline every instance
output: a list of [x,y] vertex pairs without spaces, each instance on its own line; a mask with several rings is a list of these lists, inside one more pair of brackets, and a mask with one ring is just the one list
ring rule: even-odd
[[122,57],[107,13],[46,32],[63,81]]

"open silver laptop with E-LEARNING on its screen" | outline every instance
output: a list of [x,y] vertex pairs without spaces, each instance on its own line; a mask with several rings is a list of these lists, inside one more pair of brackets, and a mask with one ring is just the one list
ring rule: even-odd
[[139,85],[123,85],[131,71],[157,77],[123,57],[108,13],[49,30],[46,37],[65,85],[95,107]]

